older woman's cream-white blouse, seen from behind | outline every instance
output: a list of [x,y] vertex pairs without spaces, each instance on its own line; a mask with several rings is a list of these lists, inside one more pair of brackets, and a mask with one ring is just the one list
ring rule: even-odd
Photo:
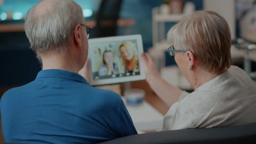
[[256,122],[256,84],[236,66],[180,100],[164,116],[163,130],[212,128]]

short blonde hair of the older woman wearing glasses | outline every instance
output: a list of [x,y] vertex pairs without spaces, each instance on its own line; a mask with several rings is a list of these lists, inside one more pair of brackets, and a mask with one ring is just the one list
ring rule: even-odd
[[232,65],[230,29],[216,12],[201,10],[184,16],[170,29],[167,40],[176,49],[190,50],[208,72],[220,73]]

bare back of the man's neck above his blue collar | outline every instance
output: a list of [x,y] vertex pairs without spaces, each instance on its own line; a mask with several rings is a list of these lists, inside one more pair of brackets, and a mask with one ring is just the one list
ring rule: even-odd
[[79,65],[75,58],[70,56],[47,55],[42,56],[43,70],[45,69],[62,69],[70,72],[79,71]]

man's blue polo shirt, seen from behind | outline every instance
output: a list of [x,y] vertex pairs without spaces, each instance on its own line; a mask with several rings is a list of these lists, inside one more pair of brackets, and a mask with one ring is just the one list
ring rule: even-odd
[[0,111],[6,142],[84,144],[138,134],[120,95],[59,69],[5,92]]

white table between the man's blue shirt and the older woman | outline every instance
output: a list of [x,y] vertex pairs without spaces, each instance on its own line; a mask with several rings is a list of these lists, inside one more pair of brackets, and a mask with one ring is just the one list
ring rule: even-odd
[[151,130],[162,131],[164,116],[149,105],[148,102],[143,101],[138,106],[132,106],[127,105],[124,97],[122,99],[138,132]]

